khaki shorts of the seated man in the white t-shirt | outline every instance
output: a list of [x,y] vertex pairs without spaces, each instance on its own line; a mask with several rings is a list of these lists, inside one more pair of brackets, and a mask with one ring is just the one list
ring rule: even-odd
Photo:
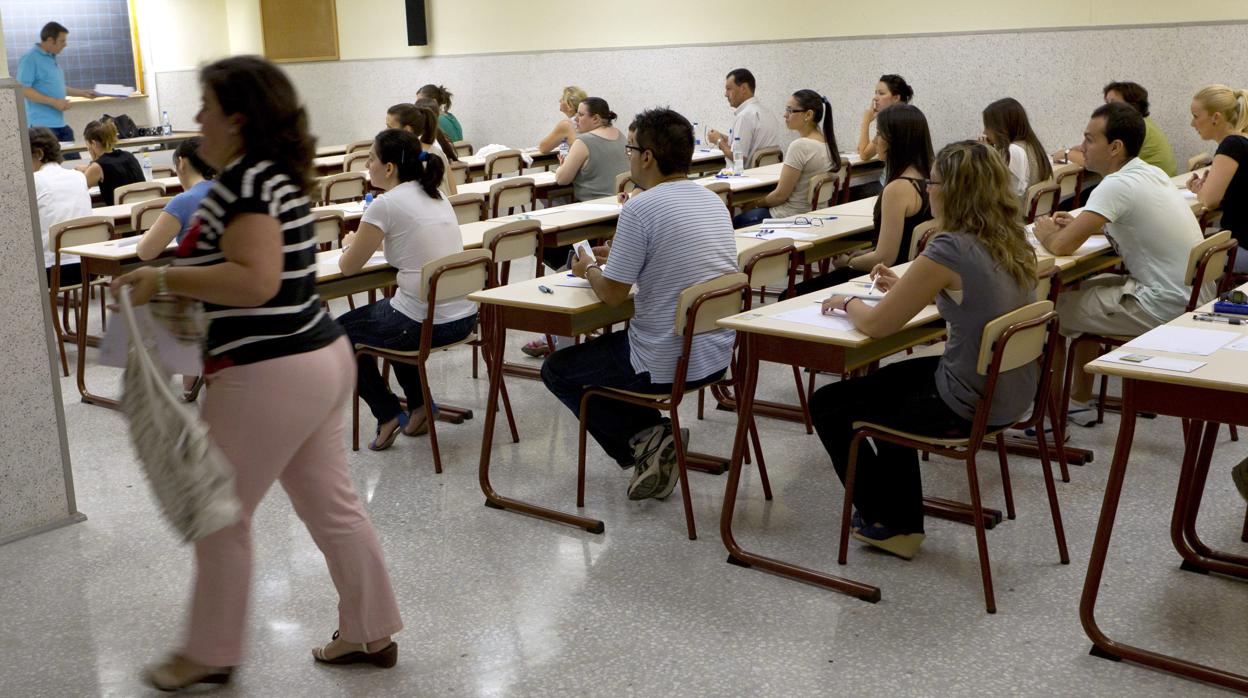
[[1127,276],[1103,273],[1085,281],[1077,291],[1057,295],[1062,335],[1121,335],[1138,337],[1163,322],[1144,312],[1127,293]]

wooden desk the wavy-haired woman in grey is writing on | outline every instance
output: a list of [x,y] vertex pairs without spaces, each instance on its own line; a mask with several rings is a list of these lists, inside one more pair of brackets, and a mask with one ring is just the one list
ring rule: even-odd
[[[720,514],[719,529],[724,546],[729,552],[728,562],[733,564],[758,567],[875,603],[880,601],[880,589],[877,587],[748,552],[733,536],[733,514],[736,507],[738,487],[741,478],[745,437],[750,423],[748,416],[754,411],[760,362],[773,361],[789,365],[796,357],[800,358],[802,365],[811,368],[842,373],[869,366],[907,347],[921,345],[945,335],[945,325],[940,320],[935,305],[924,308],[899,332],[877,340],[867,337],[856,330],[829,330],[775,318],[778,313],[809,307],[814,305],[815,298],[825,298],[830,292],[836,292],[840,288],[849,288],[849,286],[841,285],[827,291],[807,293],[787,301],[761,306],[719,322],[721,327],[738,332],[739,352],[736,371],[740,371],[738,378],[740,408],[738,410],[733,457],[729,461],[728,483],[724,489],[724,508]],[[854,286],[852,290],[860,291],[861,288]],[[1000,516],[1000,512],[997,514]]]

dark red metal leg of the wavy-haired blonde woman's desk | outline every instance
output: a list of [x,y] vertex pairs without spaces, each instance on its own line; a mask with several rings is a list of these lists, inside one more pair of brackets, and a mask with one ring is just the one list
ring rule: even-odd
[[807,582],[829,589],[834,589],[862,601],[876,603],[880,601],[879,587],[855,582],[842,577],[835,577],[824,572],[816,572],[787,562],[763,557],[746,552],[733,537],[733,513],[736,508],[736,491],[741,482],[741,461],[745,453],[745,438],[750,426],[750,415],[754,408],[754,391],[758,387],[759,362],[753,356],[750,345],[754,340],[751,335],[745,335],[741,341],[743,356],[738,360],[738,366],[745,368],[740,382],[740,405],[736,412],[736,435],[733,438],[733,461],[728,469],[728,483],[724,489],[724,509],[719,518],[719,532],[728,548],[728,562],[741,567],[758,567],[768,572],[774,572],[790,579]]

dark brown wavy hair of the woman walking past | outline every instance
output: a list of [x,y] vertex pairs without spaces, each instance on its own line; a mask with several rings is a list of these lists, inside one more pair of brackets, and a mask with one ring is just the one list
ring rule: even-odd
[[200,84],[212,90],[222,112],[242,116],[240,137],[248,159],[270,160],[301,191],[311,190],[316,139],[285,72],[260,56],[232,56],[205,66]]

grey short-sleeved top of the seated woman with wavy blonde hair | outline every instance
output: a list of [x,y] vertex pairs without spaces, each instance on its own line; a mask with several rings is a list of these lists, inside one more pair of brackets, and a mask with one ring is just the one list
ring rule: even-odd
[[[975,420],[975,405],[988,383],[988,377],[976,371],[983,326],[1033,302],[1036,287],[1015,283],[970,233],[940,233],[927,243],[922,256],[962,277],[961,301],[945,290],[936,296],[936,308],[948,325],[948,341],[936,368],[936,390],[950,410]],[[1005,425],[1025,416],[1036,397],[1038,373],[1035,363],[1001,373],[988,406],[988,425]]]

